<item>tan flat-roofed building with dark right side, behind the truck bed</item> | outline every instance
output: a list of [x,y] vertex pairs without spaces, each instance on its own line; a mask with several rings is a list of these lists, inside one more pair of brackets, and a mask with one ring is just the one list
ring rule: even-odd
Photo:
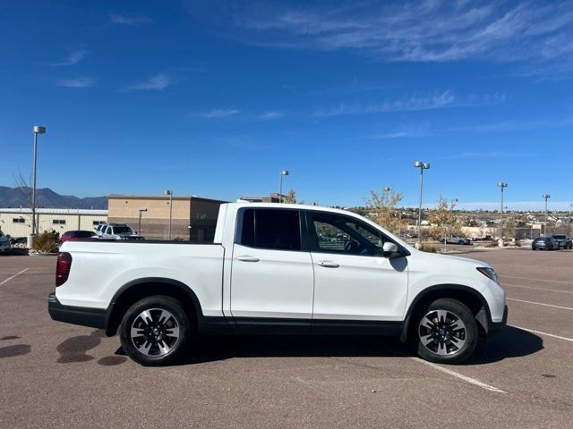
[[[225,202],[227,201],[192,196],[173,197],[172,240],[200,242],[213,240],[218,207]],[[170,213],[168,196],[110,195],[107,197],[107,210],[110,223],[127,223],[147,240],[168,238]]]

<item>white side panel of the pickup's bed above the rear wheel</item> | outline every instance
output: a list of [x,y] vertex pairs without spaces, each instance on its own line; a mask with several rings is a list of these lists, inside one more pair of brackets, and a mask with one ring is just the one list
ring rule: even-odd
[[189,241],[66,241],[72,255],[57,299],[76,307],[107,308],[115,292],[142,279],[172,279],[192,288],[204,315],[222,315],[225,248]]

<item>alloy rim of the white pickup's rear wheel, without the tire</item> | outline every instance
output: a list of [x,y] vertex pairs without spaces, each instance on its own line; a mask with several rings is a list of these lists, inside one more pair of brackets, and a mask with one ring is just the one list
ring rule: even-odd
[[131,338],[143,355],[161,357],[175,348],[179,333],[175,315],[163,308],[149,308],[133,320]]

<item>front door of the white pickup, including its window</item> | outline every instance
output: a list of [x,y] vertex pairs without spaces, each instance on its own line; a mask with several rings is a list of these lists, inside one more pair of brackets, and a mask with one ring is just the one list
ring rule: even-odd
[[307,213],[314,265],[313,325],[330,319],[398,322],[407,299],[407,259],[382,256],[389,240],[344,214]]

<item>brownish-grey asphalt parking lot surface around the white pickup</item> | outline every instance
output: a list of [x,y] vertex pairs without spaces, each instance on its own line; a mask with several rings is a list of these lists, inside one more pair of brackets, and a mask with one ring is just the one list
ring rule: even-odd
[[573,251],[495,249],[509,327],[460,366],[378,337],[219,337],[180,366],[53,322],[54,257],[0,257],[0,427],[571,427]]

